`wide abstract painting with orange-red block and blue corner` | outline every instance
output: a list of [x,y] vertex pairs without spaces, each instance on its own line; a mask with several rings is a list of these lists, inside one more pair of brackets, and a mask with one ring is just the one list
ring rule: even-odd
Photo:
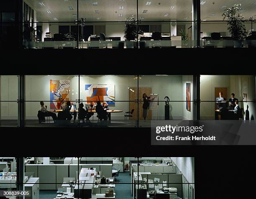
[[115,84],[85,84],[85,98],[87,104],[90,104],[90,101],[107,101],[109,105],[114,105]]

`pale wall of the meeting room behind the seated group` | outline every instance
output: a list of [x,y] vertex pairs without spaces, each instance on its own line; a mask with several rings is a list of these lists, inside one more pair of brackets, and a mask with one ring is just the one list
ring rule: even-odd
[[[50,79],[70,79],[71,100],[78,99],[78,77],[75,76],[26,76],[26,100],[38,102],[26,102],[26,119],[36,119],[40,107],[40,101],[50,100]],[[186,100],[186,83],[191,82],[192,76],[142,76],[139,79],[140,87],[151,87],[152,93],[159,94],[159,100],[165,101],[168,96],[170,100]],[[84,84],[115,84],[115,100],[128,101],[128,87],[137,87],[137,80],[134,76],[83,76],[80,77],[80,98],[85,100]],[[193,90],[191,84],[191,92]],[[72,94],[73,93],[73,94]],[[18,99],[18,77],[1,77],[1,99]],[[9,103],[9,104],[8,104]],[[17,102],[2,102],[2,119],[12,119],[18,115]],[[45,102],[48,109],[50,102]],[[165,102],[159,102],[158,116],[164,119]],[[192,119],[192,112],[186,110],[185,102],[170,102],[170,119]],[[115,110],[129,110],[129,102],[115,102],[110,105]],[[124,113],[115,113],[113,119],[123,119]],[[156,118],[156,111],[152,111],[152,118]]]

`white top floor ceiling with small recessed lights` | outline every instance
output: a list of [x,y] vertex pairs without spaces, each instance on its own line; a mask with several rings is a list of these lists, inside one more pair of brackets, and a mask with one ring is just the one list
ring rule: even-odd
[[[59,22],[74,22],[76,19],[73,14],[77,14],[77,0],[25,1],[37,11],[37,21],[55,21],[53,18],[57,18]],[[46,6],[40,6],[39,1]],[[92,1],[97,1],[98,5],[93,6]],[[147,1],[138,1],[139,19],[144,17],[144,21],[192,20],[192,0],[151,0],[151,5],[146,5]],[[250,16],[256,18],[256,0],[207,0],[204,5],[201,5],[201,20],[222,20],[221,15],[224,9],[220,8],[224,5],[231,7],[238,3],[241,3],[241,8],[245,9],[243,15],[246,19]],[[74,10],[69,10],[69,6],[72,6]],[[124,6],[124,9],[119,10],[119,6]],[[168,9],[171,6],[174,6],[174,9]],[[49,10],[52,14],[46,13],[46,10]],[[99,10],[99,13],[95,13],[95,10]],[[148,10],[148,12],[142,13],[143,10]],[[123,14],[123,17],[118,17],[118,14]],[[164,16],[165,14],[168,15]],[[86,21],[125,21],[125,18],[131,15],[137,16],[136,0],[79,0],[79,17],[86,18]],[[100,20],[97,20],[97,17],[100,17]]]

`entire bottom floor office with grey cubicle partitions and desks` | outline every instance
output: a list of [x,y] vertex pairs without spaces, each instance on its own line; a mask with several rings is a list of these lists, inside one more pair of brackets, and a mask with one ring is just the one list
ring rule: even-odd
[[[195,198],[192,157],[0,159],[0,190],[23,189],[33,199]],[[24,186],[18,187],[15,183],[20,179]]]

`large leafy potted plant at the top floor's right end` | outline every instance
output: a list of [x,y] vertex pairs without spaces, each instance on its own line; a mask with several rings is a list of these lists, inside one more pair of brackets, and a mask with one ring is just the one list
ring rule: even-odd
[[243,38],[247,35],[246,26],[243,21],[241,4],[235,4],[232,8],[226,8],[222,14],[223,20],[228,20],[228,31],[233,37],[234,47],[242,47]]

